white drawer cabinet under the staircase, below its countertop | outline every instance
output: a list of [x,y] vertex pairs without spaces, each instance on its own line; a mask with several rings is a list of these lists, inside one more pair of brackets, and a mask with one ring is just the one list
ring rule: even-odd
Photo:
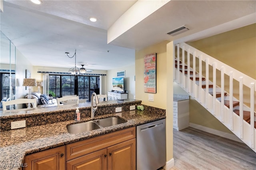
[[189,127],[189,100],[173,101],[173,128],[178,131]]

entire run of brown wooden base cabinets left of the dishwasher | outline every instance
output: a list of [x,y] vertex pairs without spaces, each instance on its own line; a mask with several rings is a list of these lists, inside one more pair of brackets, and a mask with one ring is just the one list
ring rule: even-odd
[[136,127],[25,156],[24,170],[136,170]]

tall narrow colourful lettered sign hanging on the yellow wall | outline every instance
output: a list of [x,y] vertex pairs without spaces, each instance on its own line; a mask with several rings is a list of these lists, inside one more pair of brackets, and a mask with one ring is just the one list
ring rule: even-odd
[[144,92],[156,93],[156,53],[144,56]]

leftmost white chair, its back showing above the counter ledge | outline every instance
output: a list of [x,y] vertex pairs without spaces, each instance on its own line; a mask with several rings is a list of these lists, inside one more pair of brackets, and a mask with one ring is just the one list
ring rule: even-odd
[[15,99],[10,101],[2,101],[3,111],[7,110],[6,106],[15,105],[15,104],[28,104],[28,108],[30,108],[30,104],[32,104],[32,107],[35,108],[37,107],[37,100],[21,98],[21,99]]

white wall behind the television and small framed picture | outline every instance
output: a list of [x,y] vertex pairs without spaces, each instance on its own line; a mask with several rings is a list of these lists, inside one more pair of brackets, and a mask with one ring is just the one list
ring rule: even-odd
[[112,78],[116,77],[116,72],[125,70],[124,90],[128,92],[128,99],[133,99],[135,95],[135,64],[121,67],[107,72],[107,91],[112,90]]

